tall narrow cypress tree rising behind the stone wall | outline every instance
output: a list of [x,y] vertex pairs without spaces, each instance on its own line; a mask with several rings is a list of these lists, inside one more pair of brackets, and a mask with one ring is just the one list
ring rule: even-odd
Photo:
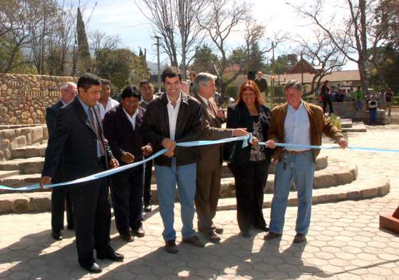
[[90,51],[88,49],[88,40],[85,31],[81,9],[78,8],[78,19],[76,22],[76,34],[78,35],[78,71],[80,74],[91,70]]

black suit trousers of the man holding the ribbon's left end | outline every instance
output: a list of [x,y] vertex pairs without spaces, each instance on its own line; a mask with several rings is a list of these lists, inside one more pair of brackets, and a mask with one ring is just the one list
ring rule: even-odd
[[[99,168],[97,172],[103,171]],[[73,208],[78,262],[91,266],[94,262],[93,249],[97,257],[103,257],[110,248],[111,212],[108,203],[108,178],[68,187]]]

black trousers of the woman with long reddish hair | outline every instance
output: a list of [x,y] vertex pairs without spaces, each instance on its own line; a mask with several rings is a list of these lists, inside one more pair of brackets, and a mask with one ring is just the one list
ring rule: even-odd
[[249,227],[266,227],[262,205],[264,187],[269,173],[266,161],[229,164],[234,175],[237,198],[237,222],[239,230],[246,232]]

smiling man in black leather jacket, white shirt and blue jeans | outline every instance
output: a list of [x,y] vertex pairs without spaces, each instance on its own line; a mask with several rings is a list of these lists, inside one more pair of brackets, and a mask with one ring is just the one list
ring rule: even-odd
[[157,195],[164,225],[162,236],[167,252],[176,254],[175,188],[179,190],[182,206],[182,241],[195,247],[204,247],[192,226],[194,219],[195,174],[198,161],[197,147],[180,147],[176,142],[195,141],[201,132],[201,105],[180,90],[182,76],[177,68],[162,72],[166,92],[148,104],[142,131],[154,151],[167,149],[155,158]]

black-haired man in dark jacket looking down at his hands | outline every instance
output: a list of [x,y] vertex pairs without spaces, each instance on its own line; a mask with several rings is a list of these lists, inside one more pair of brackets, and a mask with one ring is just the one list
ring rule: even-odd
[[[105,114],[104,134],[110,149],[120,164],[142,161],[143,154],[152,152],[142,139],[141,124],[145,109],[138,106],[141,96],[133,87],[125,87],[122,102]],[[111,194],[116,228],[120,237],[132,242],[133,236],[143,237],[142,190],[144,168],[142,165],[128,169],[112,177]],[[130,233],[131,231],[131,233]]]

